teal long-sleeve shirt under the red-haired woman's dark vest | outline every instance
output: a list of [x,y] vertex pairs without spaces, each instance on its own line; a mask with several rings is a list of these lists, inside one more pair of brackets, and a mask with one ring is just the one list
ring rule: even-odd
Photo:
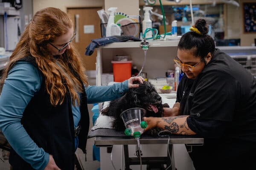
[[[19,61],[9,71],[0,95],[0,129],[12,148],[36,170],[44,170],[49,154],[35,144],[20,120],[41,83],[42,74],[38,68],[29,62]],[[88,104],[111,101],[128,91],[128,81],[112,86],[88,86],[85,91]],[[72,105],[72,112],[77,126],[81,117],[79,107]]]

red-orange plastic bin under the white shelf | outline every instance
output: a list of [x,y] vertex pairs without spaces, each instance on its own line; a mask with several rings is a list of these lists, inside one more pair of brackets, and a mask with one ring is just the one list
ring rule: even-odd
[[114,82],[123,82],[131,77],[132,61],[111,61],[113,66]]

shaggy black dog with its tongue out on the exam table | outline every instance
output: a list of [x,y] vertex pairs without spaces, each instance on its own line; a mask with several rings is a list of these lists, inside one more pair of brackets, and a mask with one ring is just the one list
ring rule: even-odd
[[130,108],[143,108],[146,110],[145,117],[163,117],[163,107],[169,108],[169,105],[162,104],[162,98],[150,82],[134,82],[139,84],[138,88],[131,88],[119,99],[111,101],[107,108],[102,110],[102,115],[112,116],[115,120],[112,127],[116,130],[125,130],[125,125],[120,114]]

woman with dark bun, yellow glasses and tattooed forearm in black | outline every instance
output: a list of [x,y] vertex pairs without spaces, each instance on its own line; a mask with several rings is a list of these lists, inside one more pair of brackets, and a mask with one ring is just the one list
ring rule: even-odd
[[256,77],[215,48],[207,23],[196,21],[178,44],[175,62],[184,75],[173,108],[144,120],[177,135],[197,135],[189,153],[196,170],[255,170]]

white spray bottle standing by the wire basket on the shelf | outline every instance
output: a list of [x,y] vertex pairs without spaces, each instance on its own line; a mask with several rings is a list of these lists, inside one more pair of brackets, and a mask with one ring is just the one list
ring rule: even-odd
[[116,12],[116,7],[108,8],[110,12],[110,16],[108,18],[108,25],[106,28],[106,37],[114,36],[114,35],[121,35],[121,28],[114,23],[114,13]]

